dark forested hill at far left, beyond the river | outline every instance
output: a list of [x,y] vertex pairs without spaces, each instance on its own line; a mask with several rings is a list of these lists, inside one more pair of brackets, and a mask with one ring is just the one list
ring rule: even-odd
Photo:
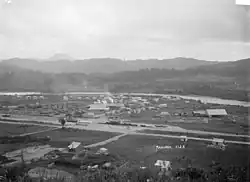
[[82,85],[86,77],[84,73],[42,73],[0,64],[0,91],[59,92]]

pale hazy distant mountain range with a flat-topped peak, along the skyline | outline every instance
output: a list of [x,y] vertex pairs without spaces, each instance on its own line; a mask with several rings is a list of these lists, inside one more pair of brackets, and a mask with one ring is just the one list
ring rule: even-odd
[[213,65],[218,62],[197,60],[192,58],[147,59],[123,61],[114,58],[93,58],[74,60],[68,55],[56,54],[47,60],[13,58],[3,60],[2,64],[13,65],[33,71],[47,73],[115,73],[122,71],[138,71],[140,69],[177,69],[184,70],[198,66]]

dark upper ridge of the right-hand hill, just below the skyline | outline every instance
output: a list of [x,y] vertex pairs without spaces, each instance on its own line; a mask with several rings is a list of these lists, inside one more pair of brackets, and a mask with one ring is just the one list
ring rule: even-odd
[[221,62],[213,65],[199,66],[185,70],[175,69],[142,69],[139,71],[124,71],[109,75],[102,75],[110,81],[149,81],[156,79],[194,78],[197,76],[230,77],[232,79],[249,80],[250,59],[235,62]]

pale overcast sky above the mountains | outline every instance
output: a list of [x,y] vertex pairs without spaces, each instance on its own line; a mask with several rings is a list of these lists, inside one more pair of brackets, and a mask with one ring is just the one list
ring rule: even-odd
[[250,57],[235,0],[0,0],[0,59]]

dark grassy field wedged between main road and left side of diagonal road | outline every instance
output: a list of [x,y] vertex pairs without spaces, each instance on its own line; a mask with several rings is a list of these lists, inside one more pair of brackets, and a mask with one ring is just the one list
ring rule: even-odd
[[101,142],[112,138],[118,133],[103,132],[103,131],[90,131],[90,130],[78,130],[78,129],[58,129],[55,131],[43,132],[32,135],[34,137],[50,136],[50,145],[53,147],[64,148],[71,142],[81,142],[82,145],[89,145],[97,142]]

